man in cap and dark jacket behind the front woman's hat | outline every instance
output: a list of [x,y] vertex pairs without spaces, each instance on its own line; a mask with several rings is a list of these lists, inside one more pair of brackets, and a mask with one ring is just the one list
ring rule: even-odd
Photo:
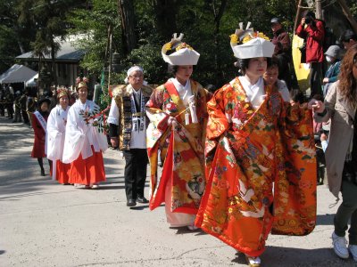
[[282,27],[278,18],[270,20],[273,38],[271,43],[275,45],[273,56],[278,59],[278,79],[286,82],[287,88],[291,89],[290,63],[291,63],[291,43],[290,37]]

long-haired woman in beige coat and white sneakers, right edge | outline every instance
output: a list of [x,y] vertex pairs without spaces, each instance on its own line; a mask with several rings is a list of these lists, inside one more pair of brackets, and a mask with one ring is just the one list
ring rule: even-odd
[[[343,198],[334,218],[334,250],[344,259],[349,257],[350,251],[357,262],[357,44],[347,50],[339,79],[330,86],[325,101],[312,99],[309,105],[317,122],[331,118],[325,154],[328,188],[337,199],[341,191]],[[350,219],[347,249],[345,231]]]

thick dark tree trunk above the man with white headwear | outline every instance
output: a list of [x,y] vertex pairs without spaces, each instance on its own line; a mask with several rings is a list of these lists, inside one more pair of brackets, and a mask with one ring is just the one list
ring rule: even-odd
[[123,42],[123,53],[129,54],[137,46],[135,34],[135,13],[131,0],[118,0],[118,9],[121,20],[121,36]]

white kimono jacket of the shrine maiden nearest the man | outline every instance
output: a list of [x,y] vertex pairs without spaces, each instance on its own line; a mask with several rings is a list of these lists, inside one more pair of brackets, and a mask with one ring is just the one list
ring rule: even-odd
[[83,159],[93,156],[91,146],[95,152],[105,151],[108,148],[108,142],[104,133],[99,133],[98,129],[93,126],[93,119],[86,124],[84,118],[79,115],[81,110],[91,112],[99,109],[94,101],[76,101],[68,111],[66,137],[64,140],[63,163],[71,163],[79,158]]

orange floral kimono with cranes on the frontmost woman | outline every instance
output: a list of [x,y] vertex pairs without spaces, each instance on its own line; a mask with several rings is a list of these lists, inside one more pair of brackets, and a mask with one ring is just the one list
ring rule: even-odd
[[311,111],[278,90],[254,110],[238,78],[207,103],[207,185],[195,225],[258,256],[270,231],[306,235],[316,222]]

